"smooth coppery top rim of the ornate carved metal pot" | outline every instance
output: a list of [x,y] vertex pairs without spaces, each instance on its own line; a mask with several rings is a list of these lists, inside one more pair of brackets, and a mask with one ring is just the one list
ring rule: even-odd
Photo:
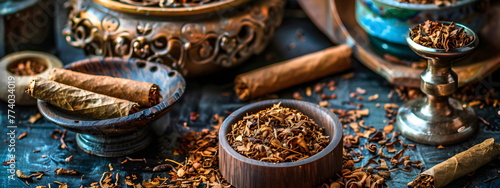
[[179,8],[144,7],[144,6],[130,5],[111,0],[92,0],[92,1],[99,5],[105,6],[111,10],[116,10],[131,14],[155,15],[155,16],[187,16],[187,15],[196,15],[196,14],[221,11],[223,9],[239,6],[250,0],[224,0],[224,1],[209,3],[206,5],[199,5],[195,7],[179,7]]

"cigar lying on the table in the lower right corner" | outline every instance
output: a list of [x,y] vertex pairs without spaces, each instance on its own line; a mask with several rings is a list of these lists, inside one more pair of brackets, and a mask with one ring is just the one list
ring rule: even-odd
[[443,187],[500,156],[500,144],[493,138],[472,146],[448,160],[422,172],[409,187]]

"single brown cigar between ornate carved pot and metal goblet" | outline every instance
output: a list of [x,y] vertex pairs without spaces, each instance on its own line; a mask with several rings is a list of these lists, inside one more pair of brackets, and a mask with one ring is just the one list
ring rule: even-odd
[[249,100],[351,68],[352,50],[346,45],[330,47],[288,61],[268,65],[236,76],[234,90]]

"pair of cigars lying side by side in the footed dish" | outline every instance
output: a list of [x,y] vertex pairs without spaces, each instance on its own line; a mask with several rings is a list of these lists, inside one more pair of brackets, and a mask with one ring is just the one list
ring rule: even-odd
[[109,119],[127,116],[160,103],[158,85],[54,68],[47,79],[36,78],[26,93],[82,116]]

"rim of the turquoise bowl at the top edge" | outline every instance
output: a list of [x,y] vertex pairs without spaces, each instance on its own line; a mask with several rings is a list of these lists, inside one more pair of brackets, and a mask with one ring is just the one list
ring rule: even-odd
[[451,4],[450,6],[437,6],[435,4],[415,4],[415,3],[401,3],[396,0],[372,0],[373,2],[377,2],[386,6],[392,6],[401,9],[410,9],[410,10],[443,10],[449,8],[456,8],[467,6],[471,3],[480,2],[484,0],[459,0],[456,3]]

